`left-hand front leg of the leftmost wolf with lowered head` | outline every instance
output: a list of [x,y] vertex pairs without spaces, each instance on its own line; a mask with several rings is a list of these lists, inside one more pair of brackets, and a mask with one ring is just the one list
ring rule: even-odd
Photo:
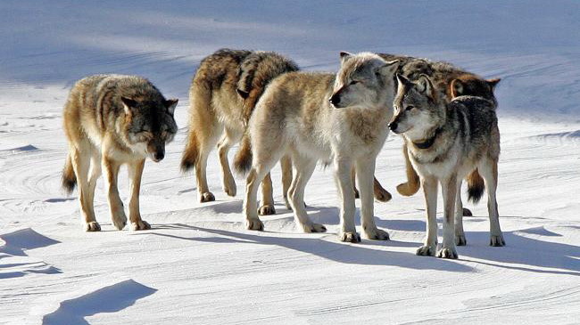
[[109,199],[112,224],[114,224],[115,228],[121,230],[127,224],[127,215],[125,215],[123,202],[120,200],[119,188],[117,186],[120,163],[107,157],[106,150],[103,150],[102,155],[103,158],[101,161],[104,172],[104,183],[107,191],[107,199]]

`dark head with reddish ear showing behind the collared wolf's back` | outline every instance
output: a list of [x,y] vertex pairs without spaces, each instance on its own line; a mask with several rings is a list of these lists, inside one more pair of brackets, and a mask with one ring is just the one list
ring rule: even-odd
[[449,86],[450,98],[477,96],[492,101],[497,106],[493,90],[500,81],[500,78],[485,80],[470,74],[461,75],[453,79]]

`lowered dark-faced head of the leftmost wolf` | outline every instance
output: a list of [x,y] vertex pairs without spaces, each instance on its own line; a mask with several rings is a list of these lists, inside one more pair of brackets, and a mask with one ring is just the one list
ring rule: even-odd
[[125,110],[122,134],[131,150],[155,162],[165,157],[165,143],[173,140],[178,126],[173,118],[177,99],[137,102],[120,98]]

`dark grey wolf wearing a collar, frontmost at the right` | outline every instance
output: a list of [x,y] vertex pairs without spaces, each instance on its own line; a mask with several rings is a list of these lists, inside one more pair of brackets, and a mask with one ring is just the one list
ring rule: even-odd
[[[477,96],[459,96],[446,102],[427,75],[418,77],[416,83],[400,74],[396,77],[394,118],[389,128],[402,134],[427,202],[427,236],[417,254],[458,257],[455,245],[465,242],[461,180],[475,169],[487,187],[490,245],[504,246],[495,198],[500,157],[495,103]],[[438,183],[443,189],[443,247],[435,252]]]

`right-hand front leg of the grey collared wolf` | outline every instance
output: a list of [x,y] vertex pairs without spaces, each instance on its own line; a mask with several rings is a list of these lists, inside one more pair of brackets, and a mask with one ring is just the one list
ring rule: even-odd
[[443,189],[443,247],[437,257],[457,258],[455,248],[455,197],[460,181],[456,175],[450,176],[441,183]]

